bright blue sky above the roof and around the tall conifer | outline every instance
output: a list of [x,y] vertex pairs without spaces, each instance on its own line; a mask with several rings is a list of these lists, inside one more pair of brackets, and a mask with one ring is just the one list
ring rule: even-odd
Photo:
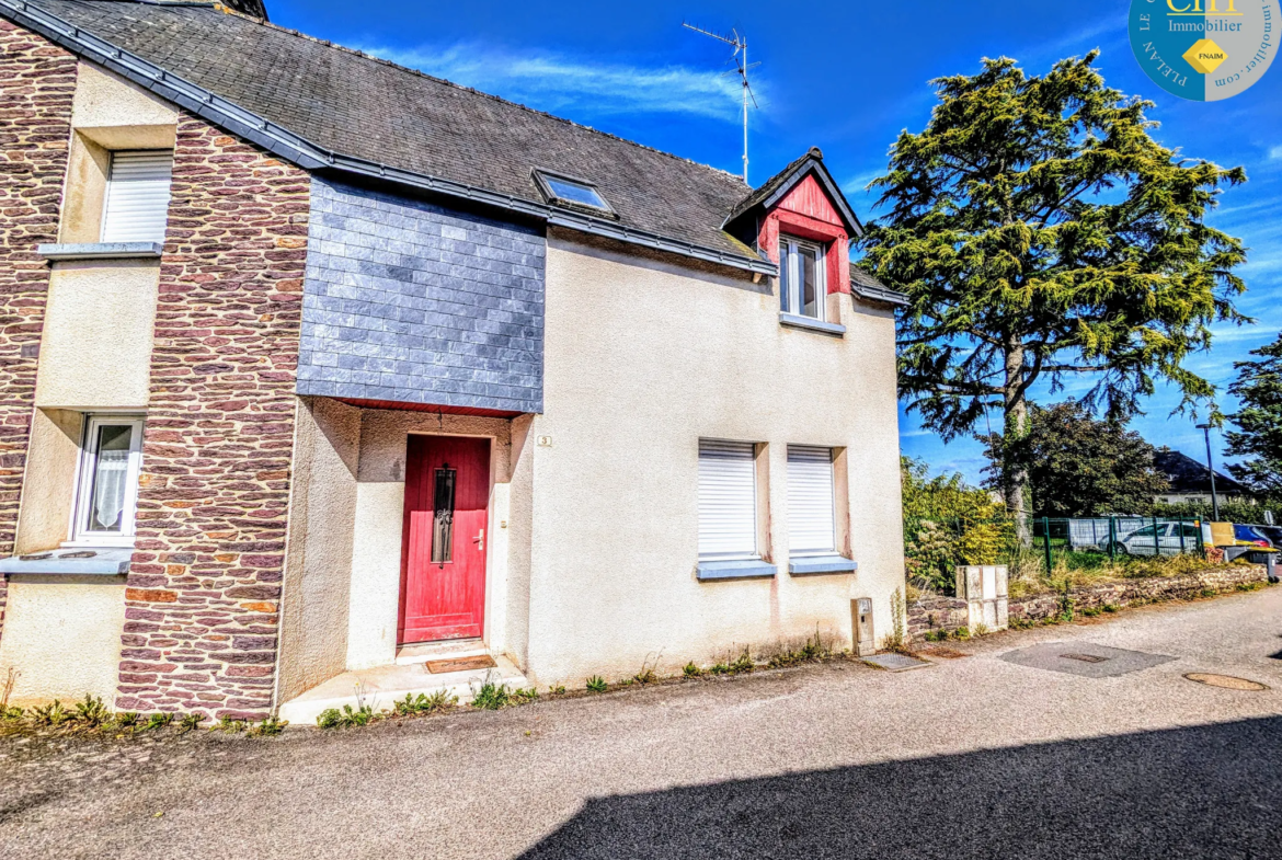
[[[433,4],[436,5],[436,4]],[[1282,331],[1282,62],[1247,92],[1220,103],[1182,101],[1145,77],[1127,42],[1128,0],[1029,4],[777,3],[556,4],[473,0],[437,8],[408,0],[268,0],[272,19],[424,72],[547,110],[678,155],[740,172],[738,86],[724,46],[682,29],[682,21],[749,40],[760,60],[751,117],[750,179],[760,183],[810,146],[865,220],[878,213],[864,192],[886,167],[903,128],[920,131],[935,104],[931,78],[973,73],[982,56],[1013,56],[1029,73],[1054,60],[1103,51],[1108,83],[1156,103],[1155,136],[1188,158],[1242,165],[1250,182],[1229,190],[1211,223],[1250,249],[1241,269],[1249,327],[1217,327],[1213,349],[1190,369],[1223,388],[1235,360]],[[1061,399],[1060,395],[1056,399]],[[1046,392],[1041,399],[1050,402]],[[1149,441],[1201,458],[1201,431],[1172,417],[1178,396],[1159,390],[1133,423]],[[1231,410],[1232,400],[1220,399]],[[995,420],[1000,419],[995,415]],[[979,445],[944,445],[900,415],[906,454],[936,472],[972,479]],[[1217,454],[1217,459],[1219,455]]]

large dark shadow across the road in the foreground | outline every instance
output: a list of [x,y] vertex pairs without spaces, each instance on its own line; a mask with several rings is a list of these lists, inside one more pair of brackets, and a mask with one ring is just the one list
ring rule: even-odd
[[601,797],[522,857],[1282,857],[1282,718]]

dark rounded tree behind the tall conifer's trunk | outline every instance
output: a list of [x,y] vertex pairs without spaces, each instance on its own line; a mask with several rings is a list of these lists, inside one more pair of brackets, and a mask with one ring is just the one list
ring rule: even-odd
[[[1097,420],[1081,404],[1032,406],[1028,431],[1003,446],[988,438],[990,460],[1005,451],[1028,473],[1036,517],[1147,514],[1168,490],[1153,465],[1154,447],[1118,420]],[[1000,460],[986,469],[1000,483]]]

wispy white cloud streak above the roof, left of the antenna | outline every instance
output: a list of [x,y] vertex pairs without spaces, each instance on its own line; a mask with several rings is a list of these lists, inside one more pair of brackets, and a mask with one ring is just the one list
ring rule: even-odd
[[[435,77],[553,113],[682,113],[737,122],[740,86],[717,70],[683,65],[594,63],[553,53],[508,53],[459,42],[449,46],[360,50]],[[758,101],[763,91],[754,85]]]

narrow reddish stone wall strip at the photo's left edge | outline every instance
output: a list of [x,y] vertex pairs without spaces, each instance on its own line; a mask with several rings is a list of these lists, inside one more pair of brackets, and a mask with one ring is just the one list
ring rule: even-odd
[[[49,265],[67,173],[76,58],[0,21],[0,555],[18,525]],[[8,582],[0,574],[0,634]]]

